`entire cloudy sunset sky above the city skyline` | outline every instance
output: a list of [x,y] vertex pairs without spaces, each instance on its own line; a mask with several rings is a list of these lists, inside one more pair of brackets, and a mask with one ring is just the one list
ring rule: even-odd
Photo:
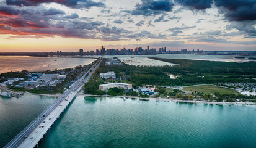
[[0,0],[0,52],[256,51],[256,0]]

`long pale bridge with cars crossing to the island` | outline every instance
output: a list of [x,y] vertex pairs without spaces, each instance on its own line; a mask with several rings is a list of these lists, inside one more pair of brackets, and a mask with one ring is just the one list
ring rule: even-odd
[[[99,67],[102,59],[99,60],[97,65],[94,65],[86,72],[79,80],[73,83],[73,86],[69,91],[56,99],[47,109],[45,109],[35,120],[33,120],[24,130],[22,130],[14,139],[12,139],[4,148],[9,147],[38,147],[38,142],[43,140],[43,136],[47,134],[48,130],[51,130],[51,126],[54,125],[56,120],[64,112],[66,107],[70,104],[73,98],[76,96],[84,85],[89,81],[90,76]],[[91,72],[90,72],[91,71]],[[88,75],[87,75],[88,74]]]

